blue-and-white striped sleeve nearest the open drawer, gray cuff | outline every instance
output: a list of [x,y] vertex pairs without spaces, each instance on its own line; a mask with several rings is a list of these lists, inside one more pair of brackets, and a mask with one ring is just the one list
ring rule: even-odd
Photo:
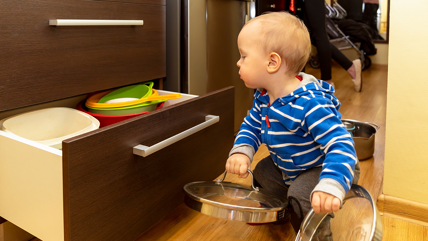
[[[250,114],[244,118],[244,122],[241,124],[241,129],[236,135],[235,143],[230,155],[236,152],[241,152],[246,155],[250,155],[250,160],[253,160],[253,156],[259,146],[262,145],[262,114],[260,112],[259,101],[256,99],[253,101],[253,108],[250,110]],[[238,151],[239,148],[246,147],[249,152]],[[252,148],[251,148],[252,147]],[[235,151],[236,149],[236,151]]]

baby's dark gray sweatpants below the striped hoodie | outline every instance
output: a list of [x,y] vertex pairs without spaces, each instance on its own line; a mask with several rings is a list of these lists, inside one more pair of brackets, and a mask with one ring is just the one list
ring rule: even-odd
[[[318,184],[322,167],[314,167],[301,173],[290,185],[285,184],[282,178],[282,171],[276,167],[275,163],[270,156],[263,158],[254,168],[254,178],[256,185],[270,190],[273,193],[281,196],[286,196],[288,199],[290,211],[290,222],[294,230],[298,232],[300,223],[303,217],[312,208],[311,201],[309,200],[312,190]],[[360,163],[357,162],[354,171],[353,184],[358,183],[360,178]],[[319,241],[332,241],[333,234],[330,230],[330,218],[334,217],[331,213],[320,224],[315,232],[316,238]],[[315,240],[317,240],[315,238]]]

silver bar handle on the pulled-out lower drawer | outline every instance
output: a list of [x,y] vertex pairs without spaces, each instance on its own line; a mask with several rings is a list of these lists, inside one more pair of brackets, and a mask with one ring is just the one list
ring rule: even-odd
[[153,146],[143,146],[143,145],[138,145],[138,146],[134,146],[134,154],[139,155],[139,156],[143,156],[146,157],[150,154],[152,154],[153,152],[159,151],[160,149],[171,145],[172,143],[175,143],[185,137],[190,136],[193,133],[196,133],[200,130],[202,130],[203,128],[206,128],[216,122],[218,122],[220,120],[220,116],[213,116],[213,115],[208,115],[205,116],[205,122],[196,125],[186,131],[183,131],[179,134],[176,134],[173,137],[169,137],[166,140],[161,141],[160,143],[157,143]]

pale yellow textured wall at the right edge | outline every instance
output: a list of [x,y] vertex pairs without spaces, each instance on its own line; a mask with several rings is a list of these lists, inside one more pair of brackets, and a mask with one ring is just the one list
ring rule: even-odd
[[383,193],[428,204],[428,0],[391,0]]

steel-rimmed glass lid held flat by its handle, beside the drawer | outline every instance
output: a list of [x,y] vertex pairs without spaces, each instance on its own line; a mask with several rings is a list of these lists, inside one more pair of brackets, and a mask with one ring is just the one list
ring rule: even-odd
[[222,179],[192,182],[183,187],[184,203],[195,211],[227,220],[249,223],[267,223],[282,219],[288,206],[286,197],[254,186],[251,187]]

